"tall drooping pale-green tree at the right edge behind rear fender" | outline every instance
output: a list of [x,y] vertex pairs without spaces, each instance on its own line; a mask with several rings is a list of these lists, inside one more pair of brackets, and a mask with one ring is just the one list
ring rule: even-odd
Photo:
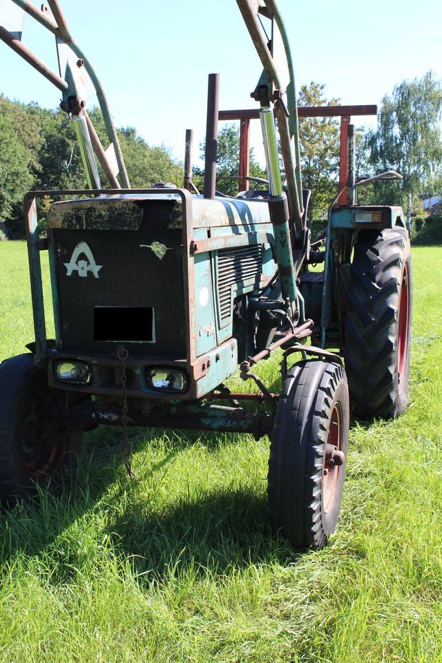
[[374,186],[376,202],[407,206],[441,186],[442,82],[429,71],[421,79],[402,81],[391,97],[382,99],[378,128],[367,135],[369,163],[374,173],[396,170],[397,183]]

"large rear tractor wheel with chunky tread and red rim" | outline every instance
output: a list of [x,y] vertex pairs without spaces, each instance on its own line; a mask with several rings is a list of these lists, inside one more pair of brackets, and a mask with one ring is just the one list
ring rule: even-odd
[[407,231],[362,231],[354,247],[345,320],[345,369],[355,414],[394,419],[406,409],[411,323]]

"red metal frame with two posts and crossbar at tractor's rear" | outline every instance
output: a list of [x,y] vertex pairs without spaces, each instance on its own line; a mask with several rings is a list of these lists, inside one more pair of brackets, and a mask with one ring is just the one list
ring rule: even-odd
[[[249,175],[250,146],[249,123],[251,119],[259,119],[256,108],[239,111],[220,111],[219,120],[240,120],[240,178]],[[374,104],[366,106],[301,106],[298,108],[298,117],[340,117],[340,146],[339,146],[339,180],[338,204],[349,204],[348,190],[348,126],[352,115],[377,115],[378,107]],[[247,180],[240,179],[240,191],[248,189]]]

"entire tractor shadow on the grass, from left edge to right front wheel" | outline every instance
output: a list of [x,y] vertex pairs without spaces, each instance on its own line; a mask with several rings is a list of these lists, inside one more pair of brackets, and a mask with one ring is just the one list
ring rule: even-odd
[[[262,485],[194,486],[191,494],[180,493],[158,506],[146,481],[128,481],[118,452],[119,430],[105,430],[90,436],[61,487],[42,488],[35,499],[0,512],[0,563],[16,555],[44,555],[50,559],[52,582],[64,584],[75,576],[73,568],[88,563],[88,546],[81,541],[88,537],[92,552],[97,542],[108,540],[115,556],[130,561],[140,584],[178,570],[222,574],[251,563],[286,565],[298,558],[282,537],[271,534]],[[131,436],[134,452],[155,439],[155,431],[146,433]],[[193,443],[193,435],[184,433],[149,474],[161,476]],[[213,450],[217,444],[211,436]]]

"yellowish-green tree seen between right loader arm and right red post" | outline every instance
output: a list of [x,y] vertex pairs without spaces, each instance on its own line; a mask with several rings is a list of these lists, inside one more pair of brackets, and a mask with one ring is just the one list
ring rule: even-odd
[[[303,85],[298,106],[336,106],[325,99],[325,85]],[[301,117],[299,120],[302,186],[311,189],[309,218],[321,218],[336,198],[339,167],[339,127],[334,117]]]

